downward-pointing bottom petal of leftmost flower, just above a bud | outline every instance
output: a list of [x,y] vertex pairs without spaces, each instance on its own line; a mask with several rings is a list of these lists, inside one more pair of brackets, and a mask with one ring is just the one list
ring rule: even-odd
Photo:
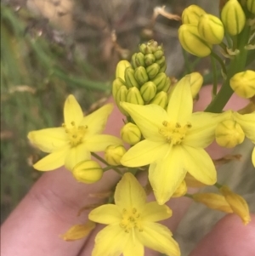
[[80,144],[71,147],[67,156],[65,157],[65,168],[72,170],[78,162],[91,159],[90,152],[87,150],[87,145]]

